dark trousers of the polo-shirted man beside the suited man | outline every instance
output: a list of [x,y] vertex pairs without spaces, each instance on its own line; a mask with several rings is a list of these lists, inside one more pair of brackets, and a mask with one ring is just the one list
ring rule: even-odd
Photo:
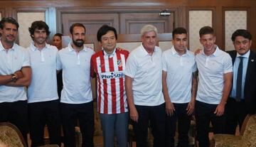
[[213,125],[214,134],[223,134],[225,132],[225,113],[222,116],[216,116],[214,111],[218,104],[206,104],[196,101],[196,131],[200,147],[209,146],[209,125]]

